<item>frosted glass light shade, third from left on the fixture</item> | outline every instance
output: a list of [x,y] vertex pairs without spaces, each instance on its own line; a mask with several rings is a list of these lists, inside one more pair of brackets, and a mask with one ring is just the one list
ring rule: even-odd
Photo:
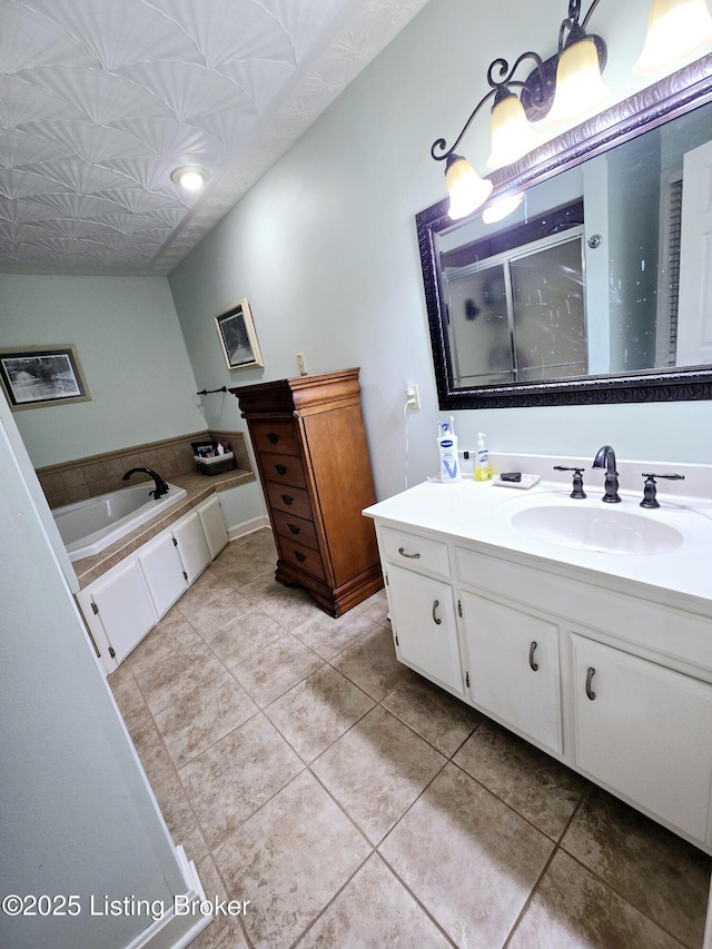
[[601,77],[599,51],[591,37],[567,46],[556,67],[556,95],[546,117],[552,122],[571,122],[599,111],[611,97]]

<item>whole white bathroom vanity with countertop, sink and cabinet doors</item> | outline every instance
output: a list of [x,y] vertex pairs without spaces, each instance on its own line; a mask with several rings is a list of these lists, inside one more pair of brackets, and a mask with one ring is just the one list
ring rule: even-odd
[[683,494],[712,473],[676,468],[645,511],[603,504],[599,473],[572,500],[556,461],[530,458],[528,491],[426,482],[366,508],[397,658],[712,853],[712,502]]

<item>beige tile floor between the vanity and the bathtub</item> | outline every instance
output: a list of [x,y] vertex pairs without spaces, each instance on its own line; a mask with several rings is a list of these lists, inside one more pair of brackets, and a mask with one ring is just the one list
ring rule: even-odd
[[712,860],[231,543],[111,675],[177,843],[250,900],[196,949],[702,945]]

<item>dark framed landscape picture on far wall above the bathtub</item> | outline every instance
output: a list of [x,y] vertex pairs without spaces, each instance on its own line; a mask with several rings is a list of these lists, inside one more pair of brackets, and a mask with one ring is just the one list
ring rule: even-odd
[[91,398],[73,346],[0,349],[0,379],[13,411]]

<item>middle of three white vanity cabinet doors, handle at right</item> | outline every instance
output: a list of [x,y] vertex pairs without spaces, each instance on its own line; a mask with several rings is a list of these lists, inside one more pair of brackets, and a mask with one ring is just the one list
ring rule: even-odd
[[557,626],[473,593],[462,607],[473,703],[562,754]]

